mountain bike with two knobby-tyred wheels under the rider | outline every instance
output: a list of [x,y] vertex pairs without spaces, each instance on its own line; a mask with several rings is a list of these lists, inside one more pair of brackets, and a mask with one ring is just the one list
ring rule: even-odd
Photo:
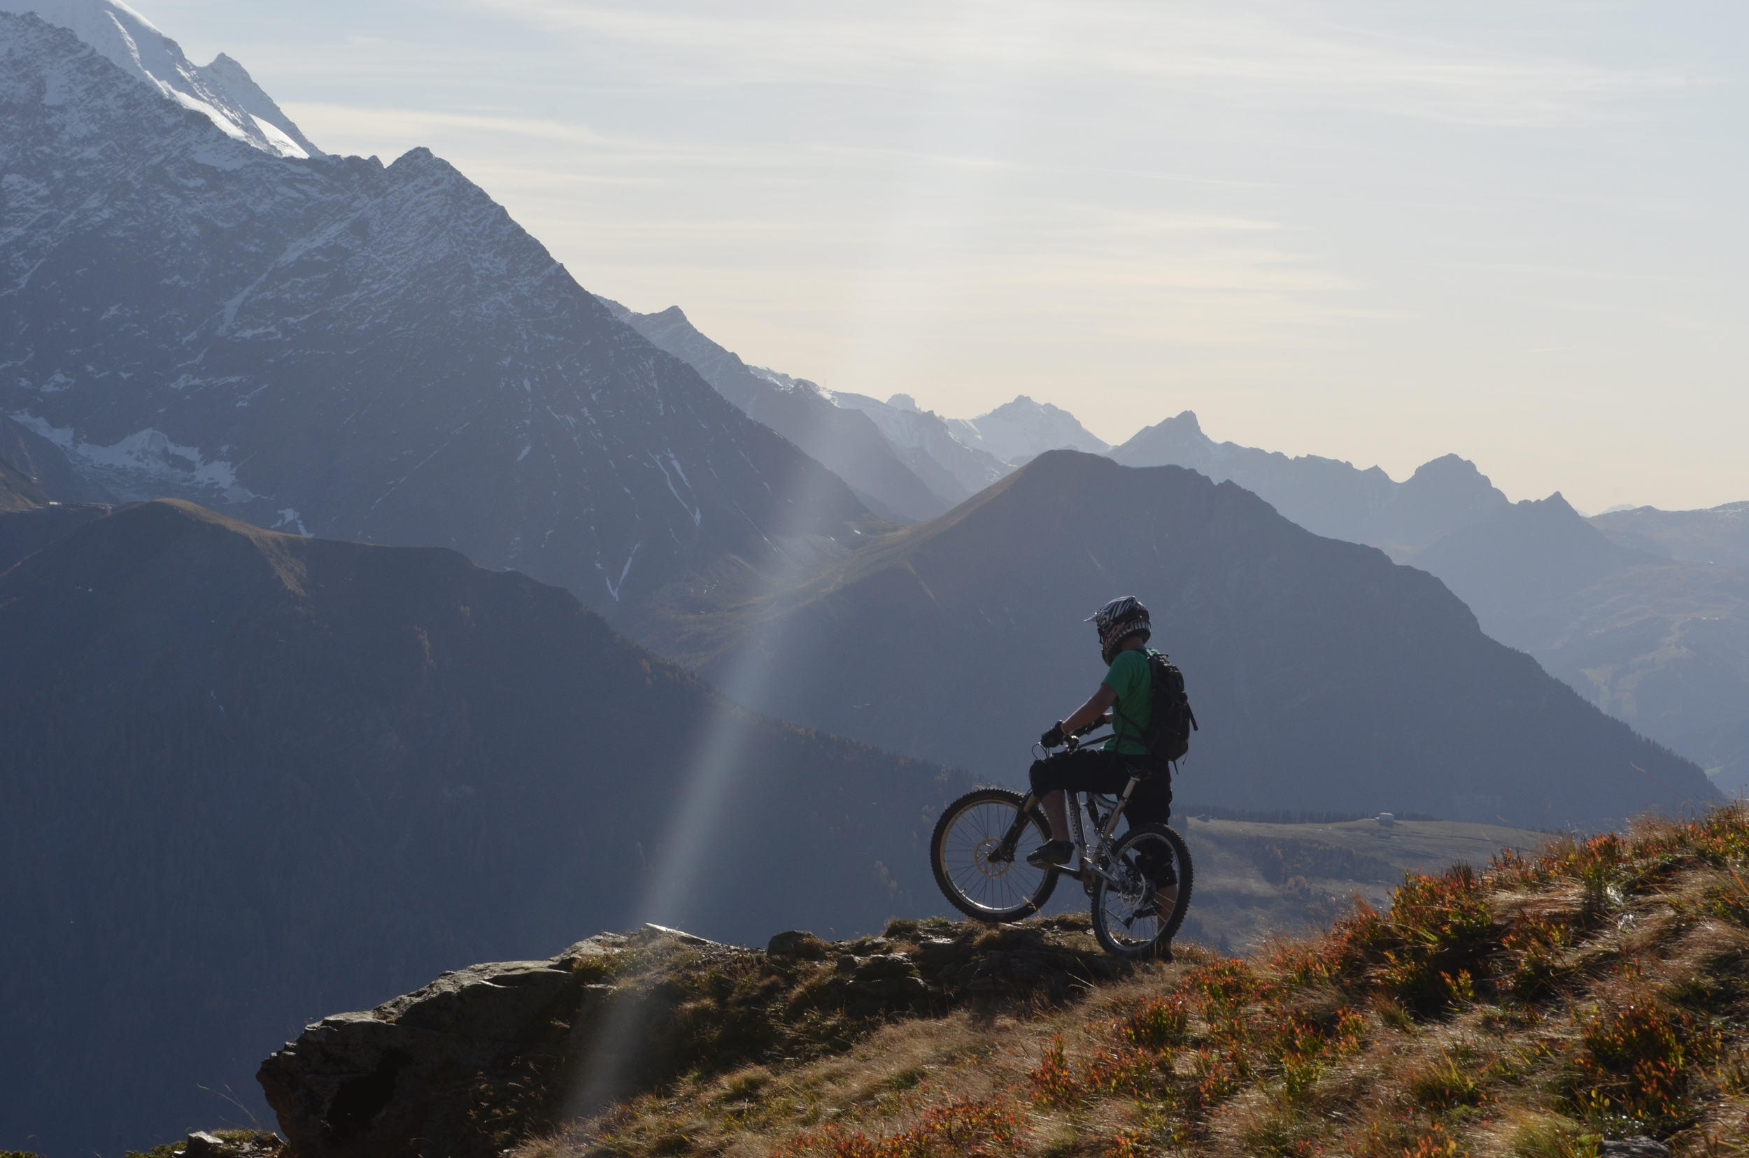
[[[1067,736],[1072,752],[1083,743]],[[1112,829],[1123,815],[1135,785],[1149,771],[1130,766],[1130,784],[1112,799],[1098,792],[1074,792],[1069,805],[1069,840],[1076,847],[1076,868],[1035,868],[1027,854],[1051,840],[1051,822],[1032,792],[1021,796],[1007,789],[978,789],[946,806],[929,838],[929,862],[936,883],[953,908],[988,924],[1020,920],[1044,908],[1060,876],[1081,882],[1093,903],[1093,936],[1116,957],[1149,957],[1167,945],[1184,924],[1191,903],[1191,854],[1184,838],[1165,824],[1133,826],[1121,840]],[[1154,775],[1165,775],[1154,773]],[[1093,840],[1081,824],[1081,812],[1091,822]],[[1161,866],[1177,873],[1179,892],[1170,911],[1160,911],[1154,880],[1167,876]]]

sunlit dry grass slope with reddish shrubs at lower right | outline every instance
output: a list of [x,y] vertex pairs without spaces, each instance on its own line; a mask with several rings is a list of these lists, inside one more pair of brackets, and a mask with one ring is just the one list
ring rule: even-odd
[[679,1083],[516,1158],[1749,1158],[1749,813],[1410,876],[1389,913],[1188,950],[1070,1008],[888,1025]]

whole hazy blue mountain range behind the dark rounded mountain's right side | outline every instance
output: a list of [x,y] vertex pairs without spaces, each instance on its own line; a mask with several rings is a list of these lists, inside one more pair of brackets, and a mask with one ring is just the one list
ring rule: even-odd
[[1749,789],[1749,502],[1581,518],[1508,502],[1446,455],[1403,483],[1378,467],[1216,443],[1184,411],[1111,451],[1231,479],[1301,527],[1431,570],[1481,628],[1611,715]]

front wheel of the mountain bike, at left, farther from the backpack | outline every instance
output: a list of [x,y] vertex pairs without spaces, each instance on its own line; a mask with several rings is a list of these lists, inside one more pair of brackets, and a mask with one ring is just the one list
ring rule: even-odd
[[1032,917],[1056,889],[1056,869],[1027,864],[1049,840],[1049,820],[1034,805],[1020,840],[1004,859],[1002,840],[1025,798],[1007,789],[978,789],[946,806],[929,838],[929,866],[943,896],[967,917],[986,922]]

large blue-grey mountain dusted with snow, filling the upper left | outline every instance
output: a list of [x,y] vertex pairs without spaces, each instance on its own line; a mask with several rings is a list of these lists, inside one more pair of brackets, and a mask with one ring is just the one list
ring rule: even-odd
[[122,499],[453,546],[610,610],[868,520],[423,149],[268,156],[0,14],[0,411]]

